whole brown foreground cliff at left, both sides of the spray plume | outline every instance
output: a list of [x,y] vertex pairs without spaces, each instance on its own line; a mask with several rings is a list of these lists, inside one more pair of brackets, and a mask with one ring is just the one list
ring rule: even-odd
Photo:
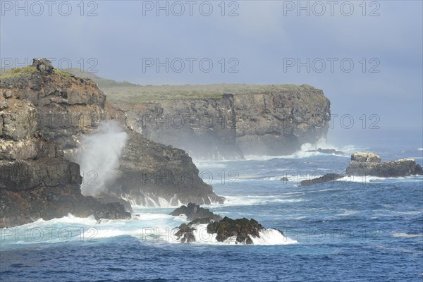
[[[92,80],[39,66],[2,76],[0,227],[68,213],[128,218],[130,214],[123,204],[116,203],[121,202],[121,195],[140,204],[145,204],[146,199],[150,204],[172,199],[175,204],[178,200],[200,204],[223,201],[198,177],[197,168],[185,152],[151,142],[124,128],[125,118],[123,111],[106,104],[106,96]],[[118,177],[107,183],[109,196],[85,197],[80,191],[82,178],[75,155],[82,138],[94,133],[105,119],[120,122],[128,140],[116,171]],[[190,172],[191,184],[150,179],[167,170]]]

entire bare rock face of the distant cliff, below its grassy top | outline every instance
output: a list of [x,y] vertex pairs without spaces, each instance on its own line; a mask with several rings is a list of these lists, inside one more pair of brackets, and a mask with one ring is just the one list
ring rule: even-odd
[[330,121],[329,99],[307,85],[265,94],[115,103],[135,130],[196,159],[291,154],[305,142],[326,137]]

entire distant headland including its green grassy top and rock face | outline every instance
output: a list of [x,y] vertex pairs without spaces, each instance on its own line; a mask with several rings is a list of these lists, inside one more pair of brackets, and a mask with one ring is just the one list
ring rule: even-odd
[[329,128],[329,99],[309,85],[134,85],[74,73],[97,81],[135,131],[195,159],[292,154]]

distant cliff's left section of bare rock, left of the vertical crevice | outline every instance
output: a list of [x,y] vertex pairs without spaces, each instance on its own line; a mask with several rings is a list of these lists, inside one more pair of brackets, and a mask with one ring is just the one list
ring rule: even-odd
[[243,157],[236,145],[233,95],[119,106],[127,112],[128,124],[142,135],[184,149],[193,158]]

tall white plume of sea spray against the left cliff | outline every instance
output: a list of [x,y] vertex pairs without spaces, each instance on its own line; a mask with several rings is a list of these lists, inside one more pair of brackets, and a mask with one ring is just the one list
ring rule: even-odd
[[103,121],[96,133],[85,137],[78,152],[82,195],[98,195],[115,177],[115,168],[128,135],[115,121]]

